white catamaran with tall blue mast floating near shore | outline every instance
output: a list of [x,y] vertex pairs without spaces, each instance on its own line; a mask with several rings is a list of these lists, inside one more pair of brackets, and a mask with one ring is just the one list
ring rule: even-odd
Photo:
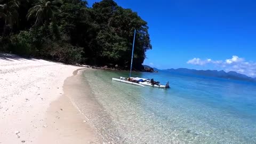
[[[135,35],[136,35],[136,29],[134,30],[134,37],[133,37],[132,59],[133,59]],[[129,78],[125,78],[125,77],[112,78],[112,81],[117,81],[117,82],[122,82],[122,83],[127,83],[127,84],[133,84],[133,85],[139,85],[139,86],[143,86],[143,87],[146,85],[146,86],[158,87],[158,88],[162,88],[162,89],[169,88],[169,82],[167,82],[166,85],[161,85],[160,82],[155,82],[154,79],[131,77],[131,72],[132,72],[132,60],[131,60],[131,69],[130,69]]]

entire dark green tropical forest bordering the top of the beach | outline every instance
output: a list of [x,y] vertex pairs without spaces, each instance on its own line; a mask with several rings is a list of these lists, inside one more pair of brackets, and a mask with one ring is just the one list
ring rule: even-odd
[[147,22],[113,0],[0,0],[0,51],[67,63],[129,68],[151,49]]

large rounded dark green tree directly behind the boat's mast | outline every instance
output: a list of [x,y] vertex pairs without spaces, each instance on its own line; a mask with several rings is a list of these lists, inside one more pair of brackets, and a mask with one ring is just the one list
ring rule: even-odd
[[123,9],[112,0],[93,4],[92,18],[99,27],[96,42],[98,59],[115,62],[129,68],[134,29],[137,29],[134,50],[134,68],[142,69],[146,51],[151,49],[147,22],[130,9]]

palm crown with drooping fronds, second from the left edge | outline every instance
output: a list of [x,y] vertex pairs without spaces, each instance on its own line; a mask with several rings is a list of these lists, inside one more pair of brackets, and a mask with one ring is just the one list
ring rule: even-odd
[[27,14],[27,19],[35,18],[36,25],[55,21],[55,12],[60,11],[60,0],[38,0],[36,5],[31,7]]

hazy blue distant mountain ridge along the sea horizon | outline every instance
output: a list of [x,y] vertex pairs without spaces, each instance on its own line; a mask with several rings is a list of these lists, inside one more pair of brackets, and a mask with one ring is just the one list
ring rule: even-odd
[[220,77],[220,78],[227,78],[227,79],[236,79],[242,81],[251,81],[256,82],[256,78],[252,78],[243,74],[236,73],[235,71],[229,71],[226,73],[223,70],[195,70],[195,69],[187,69],[187,68],[178,68],[178,69],[165,69],[163,71],[169,71],[173,73],[180,73],[180,74],[194,74],[194,75],[201,75],[201,76],[210,76],[210,77]]

